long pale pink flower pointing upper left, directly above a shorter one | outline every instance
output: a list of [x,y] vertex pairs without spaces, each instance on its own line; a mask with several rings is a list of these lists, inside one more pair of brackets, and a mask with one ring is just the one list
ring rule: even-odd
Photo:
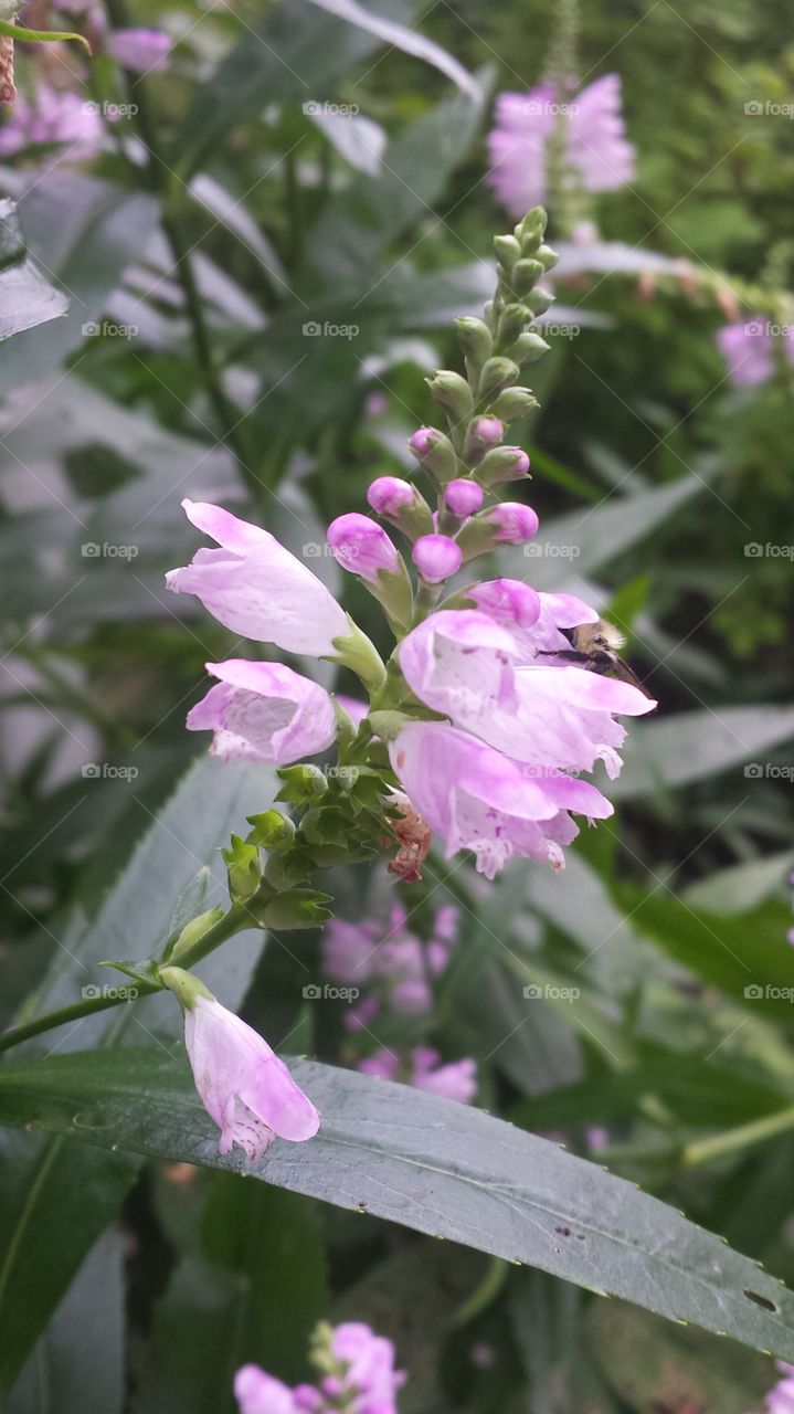
[[333,653],[335,638],[349,633],[348,618],[305,564],[275,536],[222,506],[194,501],[182,506],[188,520],[222,549],[199,550],[185,568],[171,570],[165,575],[170,590],[195,594],[233,633],[288,653]]

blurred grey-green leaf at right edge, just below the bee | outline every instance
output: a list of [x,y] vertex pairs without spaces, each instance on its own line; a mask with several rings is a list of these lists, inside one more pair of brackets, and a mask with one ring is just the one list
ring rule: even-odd
[[735,795],[752,797],[770,752],[793,738],[794,707],[712,707],[633,723],[610,793],[648,795],[733,769]]

